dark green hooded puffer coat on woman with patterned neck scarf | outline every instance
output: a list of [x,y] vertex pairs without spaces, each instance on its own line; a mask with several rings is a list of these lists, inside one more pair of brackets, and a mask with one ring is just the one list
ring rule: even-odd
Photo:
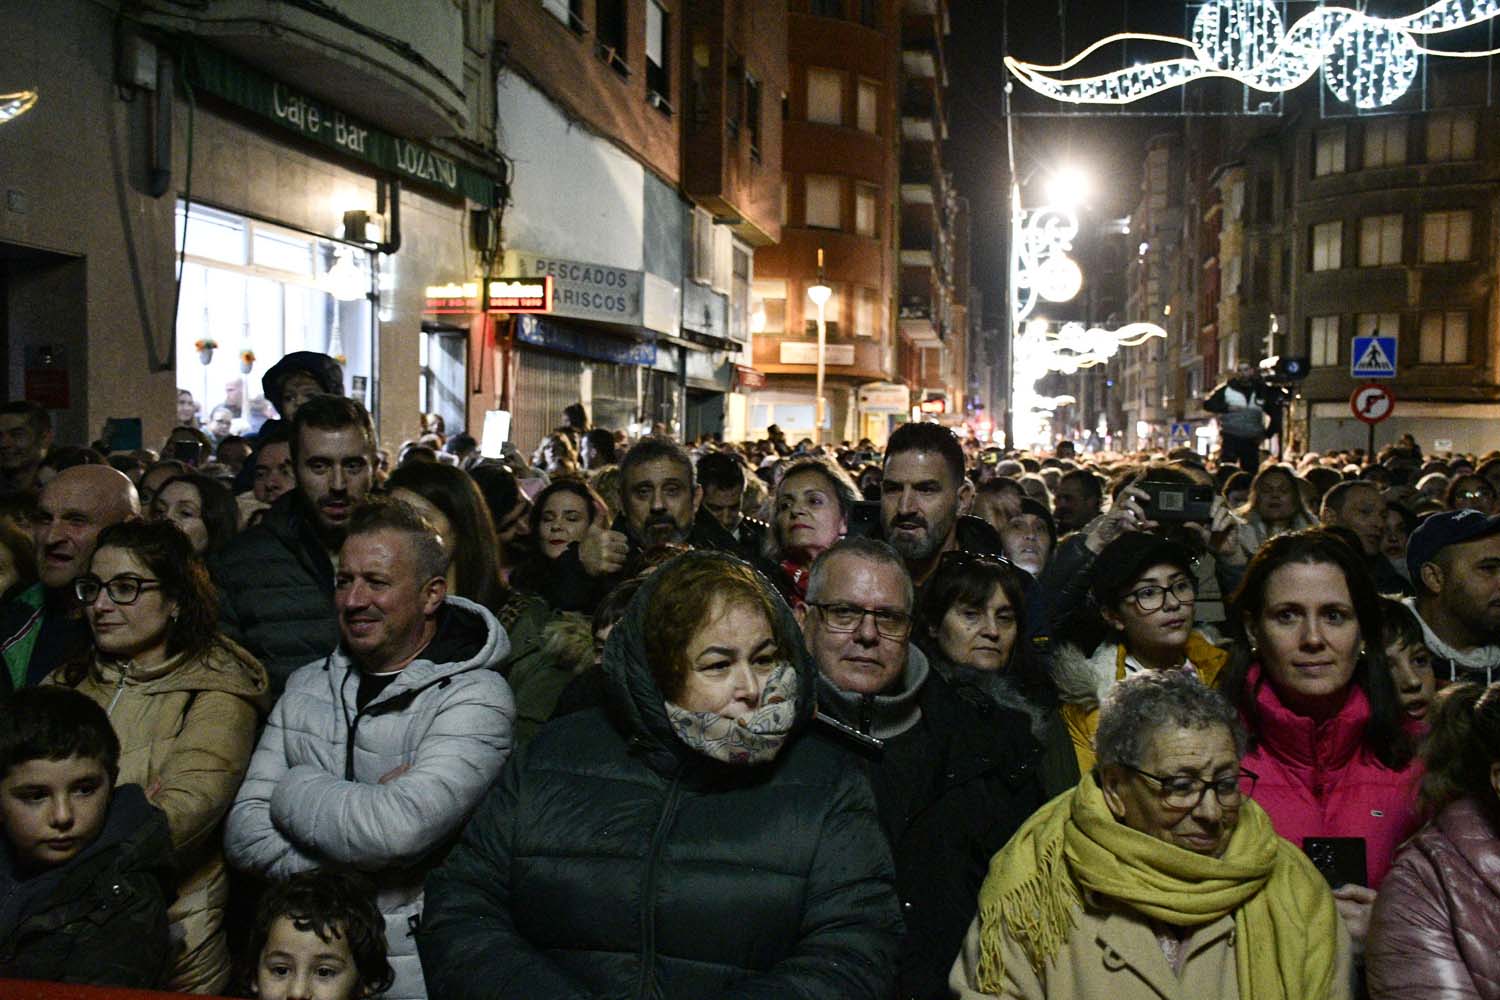
[[429,876],[417,943],[430,994],[886,997],[891,855],[862,769],[808,726],[816,673],[790,613],[774,598],[798,729],[774,762],[735,768],[670,729],[644,654],[652,589],[604,649],[609,712],[555,720],[518,750]]

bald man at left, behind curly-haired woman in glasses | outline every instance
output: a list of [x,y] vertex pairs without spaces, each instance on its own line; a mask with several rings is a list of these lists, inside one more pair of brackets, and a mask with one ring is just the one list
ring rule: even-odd
[[141,513],[130,478],[108,465],[75,465],[42,487],[32,520],[38,583],[0,609],[0,691],[38,684],[90,646],[74,598],[99,532]]

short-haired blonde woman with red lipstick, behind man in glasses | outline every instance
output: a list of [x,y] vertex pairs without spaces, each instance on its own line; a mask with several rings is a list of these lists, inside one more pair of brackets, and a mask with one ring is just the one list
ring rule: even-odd
[[794,609],[807,603],[813,559],[844,537],[856,501],[854,481],[832,462],[798,459],[782,474],[764,555],[782,570],[777,583]]

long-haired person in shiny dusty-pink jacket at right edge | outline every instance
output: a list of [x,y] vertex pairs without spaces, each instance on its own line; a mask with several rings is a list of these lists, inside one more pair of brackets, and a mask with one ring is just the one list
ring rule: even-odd
[[1422,747],[1432,820],[1396,856],[1370,921],[1370,996],[1492,997],[1500,985],[1500,684],[1455,684]]

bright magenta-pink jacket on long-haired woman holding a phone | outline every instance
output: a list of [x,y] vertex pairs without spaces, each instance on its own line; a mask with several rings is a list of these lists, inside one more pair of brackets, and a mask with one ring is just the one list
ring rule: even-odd
[[1308,837],[1364,837],[1366,885],[1378,888],[1396,846],[1418,828],[1420,765],[1390,771],[1370,751],[1370,699],[1358,685],[1336,715],[1318,723],[1284,706],[1275,687],[1262,682],[1258,663],[1245,684],[1260,714],[1258,726],[1246,720],[1256,747],[1244,766],[1260,775],[1251,798],[1276,834],[1299,847]]

